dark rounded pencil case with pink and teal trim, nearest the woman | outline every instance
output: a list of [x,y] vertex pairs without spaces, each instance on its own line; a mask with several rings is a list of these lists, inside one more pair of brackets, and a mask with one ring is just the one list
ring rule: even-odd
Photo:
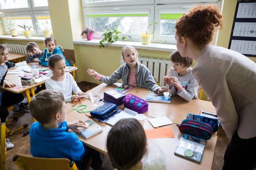
[[181,133],[206,140],[211,138],[213,132],[211,125],[192,119],[184,119],[179,125],[179,130]]

